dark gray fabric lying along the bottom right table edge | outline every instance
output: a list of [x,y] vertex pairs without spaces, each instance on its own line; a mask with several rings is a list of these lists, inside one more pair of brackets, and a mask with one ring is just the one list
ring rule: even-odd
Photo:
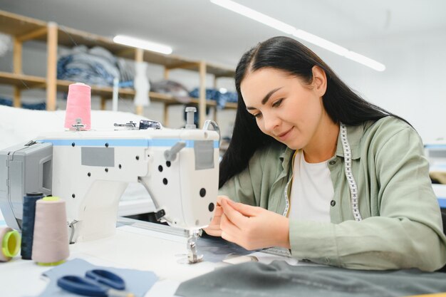
[[360,271],[328,266],[266,265],[249,262],[181,283],[177,296],[195,297],[396,297],[446,291],[446,274],[401,271]]

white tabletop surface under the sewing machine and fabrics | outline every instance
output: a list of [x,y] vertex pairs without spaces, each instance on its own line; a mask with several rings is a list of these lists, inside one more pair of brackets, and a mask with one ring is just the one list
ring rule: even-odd
[[[181,264],[180,261],[185,259],[187,252],[187,239],[181,235],[181,231],[131,219],[120,221],[135,224],[119,226],[114,236],[105,239],[72,244],[69,259],[80,258],[98,266],[153,271],[159,280],[145,297],[174,296],[182,281],[229,265],[223,262],[212,263],[206,259],[198,264]],[[166,230],[172,232],[166,233]],[[290,264],[297,264],[295,259],[271,254],[256,252],[253,255],[263,263],[283,259]],[[0,263],[0,296],[37,296],[48,283],[41,276],[48,269],[51,267],[37,266],[31,260],[22,260],[20,256]]]

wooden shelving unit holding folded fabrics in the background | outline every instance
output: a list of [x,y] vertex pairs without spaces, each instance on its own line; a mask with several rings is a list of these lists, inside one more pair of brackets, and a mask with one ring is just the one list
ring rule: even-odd
[[[12,14],[7,11],[0,11],[0,32],[9,34],[13,38],[13,71],[6,73],[0,71],[0,84],[13,85],[14,98],[13,105],[21,106],[21,90],[27,88],[46,88],[46,107],[47,110],[56,110],[57,91],[68,90],[68,85],[73,83],[68,80],[57,79],[57,48],[58,46],[71,47],[74,45],[101,46],[106,48],[113,55],[128,58],[134,61],[145,61],[147,63],[164,66],[164,77],[169,77],[170,71],[180,68],[195,71],[199,74],[199,98],[191,99],[191,103],[199,106],[199,125],[204,124],[206,118],[206,107],[214,108],[214,120],[217,116],[217,104],[214,101],[206,100],[206,75],[214,75],[214,86],[217,86],[217,80],[221,77],[233,77],[234,70],[209,64],[205,61],[192,61],[175,55],[163,55],[151,51],[144,51],[140,48],[132,48],[114,43],[109,38],[97,36],[92,33],[78,31],[65,26],[58,26],[53,22],[44,22],[37,19],[31,19],[26,16]],[[22,71],[22,48],[25,41],[42,41],[47,45],[47,73],[46,78],[26,75]],[[105,102],[113,94],[112,87],[90,85],[92,95],[99,95],[101,98],[101,108],[105,109]],[[135,90],[132,88],[120,88],[121,98],[133,98]],[[182,104],[173,96],[162,93],[150,92],[150,99],[154,102],[164,104],[163,124],[168,126],[168,108],[170,105]],[[237,108],[235,103],[227,103],[226,108]],[[143,107],[136,106],[135,113],[142,115]]]

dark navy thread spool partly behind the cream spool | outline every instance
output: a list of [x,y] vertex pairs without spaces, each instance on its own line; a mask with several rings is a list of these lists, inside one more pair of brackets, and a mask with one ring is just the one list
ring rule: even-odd
[[39,192],[26,193],[24,196],[24,212],[21,223],[21,258],[31,260],[33,252],[34,218],[36,217],[36,202],[44,196]]

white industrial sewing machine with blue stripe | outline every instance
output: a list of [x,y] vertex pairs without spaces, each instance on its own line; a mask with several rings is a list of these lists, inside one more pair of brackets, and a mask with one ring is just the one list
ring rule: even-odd
[[157,219],[185,229],[189,262],[200,261],[195,240],[212,220],[217,200],[219,129],[213,121],[195,129],[190,110],[187,118],[186,128],[177,130],[142,120],[139,127],[85,131],[78,121],[72,130],[2,150],[0,208],[6,224],[21,229],[24,195],[43,192],[65,199],[71,243],[111,236],[121,195],[129,182],[140,182]]

